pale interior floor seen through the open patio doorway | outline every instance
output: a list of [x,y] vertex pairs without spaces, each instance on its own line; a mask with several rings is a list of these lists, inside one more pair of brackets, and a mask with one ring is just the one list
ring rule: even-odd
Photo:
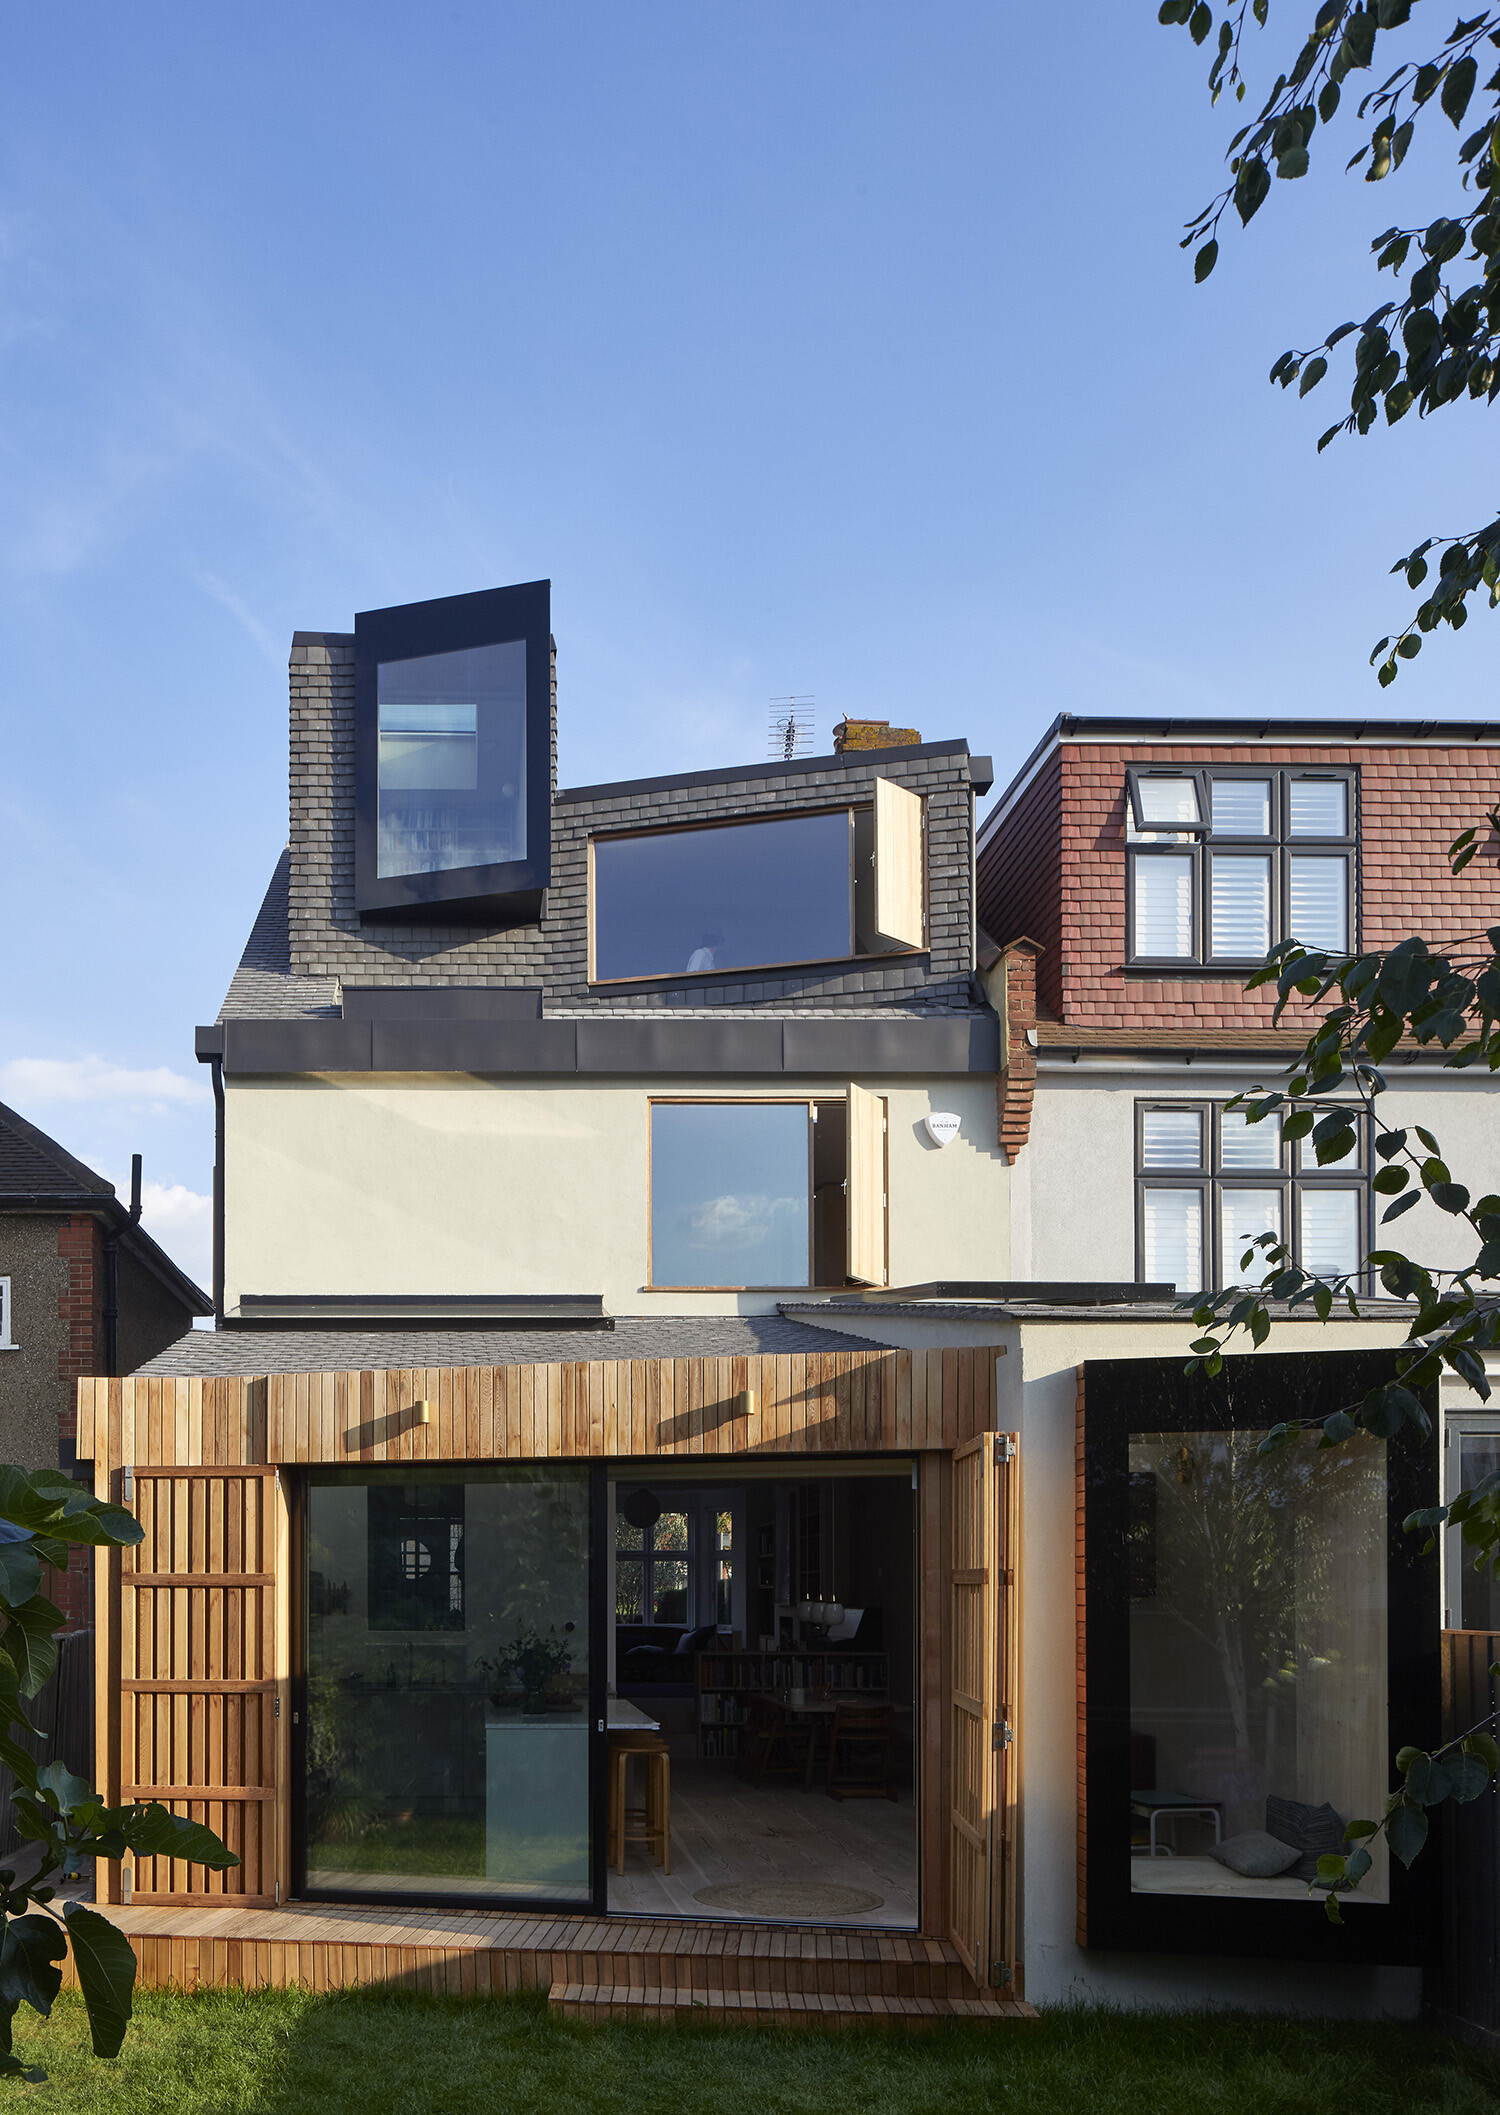
[[[916,1931],[916,1810],[895,1800],[831,1800],[821,1785],[749,1785],[726,1762],[673,1760],[673,1870],[645,1844],[609,1872],[614,1916],[690,1916]],[[747,1906],[724,1899],[747,1893]],[[702,1901],[700,1891],[711,1899]],[[781,1897],[781,1901],[776,1901]],[[772,1901],[776,1908],[772,1908]]]

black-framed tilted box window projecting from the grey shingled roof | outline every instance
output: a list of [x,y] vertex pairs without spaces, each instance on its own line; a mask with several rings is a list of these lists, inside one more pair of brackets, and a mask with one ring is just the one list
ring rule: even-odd
[[552,867],[552,582],[353,620],[364,924],[533,924]]

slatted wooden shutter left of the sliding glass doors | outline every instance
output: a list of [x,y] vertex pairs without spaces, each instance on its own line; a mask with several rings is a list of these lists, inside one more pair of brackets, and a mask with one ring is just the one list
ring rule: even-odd
[[239,1865],[138,1857],[131,1899],[271,1904],[283,1838],[277,1472],[138,1468],[133,1512],[146,1538],[118,1574],[118,1798],[207,1823]]

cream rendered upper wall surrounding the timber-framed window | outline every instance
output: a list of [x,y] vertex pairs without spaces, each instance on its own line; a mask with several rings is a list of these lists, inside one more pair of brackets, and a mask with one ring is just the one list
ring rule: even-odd
[[[865,1079],[889,1100],[891,1282],[1003,1277],[994,1081]],[[785,1100],[831,1081],[231,1081],[224,1303],[241,1292],[601,1292],[609,1313],[772,1313],[774,1292],[647,1292],[654,1096]],[[963,1129],[935,1146],[922,1117]]]

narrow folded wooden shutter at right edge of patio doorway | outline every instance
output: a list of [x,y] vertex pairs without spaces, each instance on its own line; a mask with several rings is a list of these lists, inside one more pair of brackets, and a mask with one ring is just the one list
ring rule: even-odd
[[1016,1440],[954,1449],[948,1925],[982,1988],[1016,1984]]

